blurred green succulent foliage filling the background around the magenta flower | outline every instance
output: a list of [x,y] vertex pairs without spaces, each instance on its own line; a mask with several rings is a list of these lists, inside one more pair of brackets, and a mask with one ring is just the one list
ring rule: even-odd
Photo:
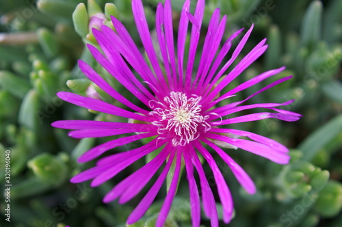
[[[157,2],[143,0],[151,31]],[[183,2],[172,0],[175,34]],[[290,81],[252,98],[250,104],[282,103],[295,98],[285,109],[303,115],[298,122],[267,119],[236,126],[291,148],[291,163],[277,165],[242,150],[227,149],[257,185],[257,193],[248,195],[223,161],[217,159],[235,202],[235,217],[228,226],[342,226],[342,1],[207,0],[206,4],[200,44],[215,8],[228,16],[225,38],[254,23],[252,35],[238,59],[265,37],[269,44],[266,53],[226,89],[265,70],[287,66],[280,75],[255,85],[240,97],[279,77],[294,75]],[[192,10],[195,5],[193,0]],[[116,90],[130,98],[131,94],[113,81],[84,48],[87,43],[97,45],[92,27],[113,27],[110,15],[119,18],[142,47],[130,0],[0,0],[1,226],[123,227],[148,190],[147,186],[127,204],[102,202],[107,191],[150,157],[134,163],[100,187],[91,188],[89,182],[70,183],[72,176],[95,163],[77,163],[77,158],[92,146],[114,137],[72,139],[68,131],[51,127],[55,120],[118,120],[70,105],[55,96],[60,91],[71,91],[115,102],[86,79],[77,59],[88,62]],[[109,152],[142,144],[144,141]],[[6,222],[8,216],[4,215],[9,203],[5,193],[8,153],[11,222]],[[210,179],[212,173],[207,164],[204,167]],[[215,185],[211,187],[215,191]],[[131,226],[154,226],[165,194],[163,187],[144,218]],[[217,206],[220,210],[219,203]],[[166,226],[192,226],[184,172]],[[205,215],[202,226],[210,226]]]

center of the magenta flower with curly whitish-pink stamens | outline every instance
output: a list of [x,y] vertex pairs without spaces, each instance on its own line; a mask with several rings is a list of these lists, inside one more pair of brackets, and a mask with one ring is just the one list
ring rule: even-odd
[[163,103],[157,102],[150,114],[156,115],[158,120],[152,124],[158,126],[161,139],[171,139],[173,146],[185,146],[190,141],[197,139],[201,131],[211,129],[206,122],[209,116],[200,113],[201,96],[187,97],[183,92],[171,92],[170,96],[163,99]]

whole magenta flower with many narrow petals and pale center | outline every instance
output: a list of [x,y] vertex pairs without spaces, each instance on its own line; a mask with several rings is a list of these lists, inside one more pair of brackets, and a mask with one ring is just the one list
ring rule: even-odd
[[[57,94],[57,96],[69,103],[127,118],[127,122],[61,120],[53,123],[53,126],[58,128],[72,129],[73,131],[69,133],[71,137],[105,137],[133,133],[95,146],[79,158],[80,162],[95,159],[112,148],[151,137],[150,142],[143,146],[101,158],[94,168],[75,176],[71,180],[73,183],[93,179],[92,187],[101,185],[138,159],[160,148],[161,151],[157,157],[118,183],[107,193],[103,200],[104,202],[110,202],[118,198],[120,203],[131,200],[150,181],[157,170],[161,169],[161,174],[159,174],[153,186],[129,216],[128,224],[137,222],[144,215],[156,198],[172,163],[174,163],[173,179],[156,222],[156,226],[163,226],[176,193],[183,159],[189,183],[193,226],[200,225],[200,197],[202,197],[205,215],[211,220],[211,226],[218,226],[218,211],[215,206],[213,191],[209,187],[198,154],[205,158],[213,172],[218,186],[218,195],[222,202],[223,220],[225,223],[230,222],[233,213],[233,199],[224,176],[222,176],[218,165],[207,148],[215,150],[218,156],[227,163],[233,174],[235,174],[237,181],[248,193],[256,191],[250,176],[220,146],[224,148],[241,148],[279,164],[289,162],[288,150],[285,146],[261,135],[230,129],[229,125],[265,118],[278,118],[289,122],[298,120],[300,118],[299,114],[277,108],[289,105],[293,101],[246,105],[246,101],[253,96],[272,88],[278,83],[287,81],[291,77],[278,79],[242,101],[230,102],[220,107],[216,105],[220,101],[229,99],[238,92],[276,75],[285,67],[263,72],[261,75],[221,94],[226,85],[231,83],[233,79],[266,51],[267,45],[265,40],[262,40],[236,64],[233,70],[227,72],[228,67],[235,61],[246,44],[252,27],[241,38],[230,59],[224,62],[224,58],[232,46],[233,39],[241,34],[242,29],[236,31],[220,46],[224,28],[226,27],[226,16],[220,18],[220,10],[216,9],[209,22],[198,68],[194,69],[195,55],[200,52],[198,50],[198,41],[205,1],[198,0],[194,14],[189,12],[189,4],[189,0],[185,1],[181,11],[176,51],[174,49],[170,0],[166,0],[164,5],[159,3],[157,6],[155,29],[157,45],[161,53],[161,57],[157,57],[146,23],[142,1],[132,1],[135,24],[144,51],[146,51],[148,62],[146,62],[131,36],[117,18],[111,18],[116,31],[109,29],[105,25],[102,25],[100,30],[93,29],[93,34],[103,53],[92,45],[88,45],[88,49],[96,61],[122,83],[124,88],[127,88],[140,101],[141,105],[133,103],[114,88],[111,88],[105,79],[83,61],[79,61],[82,72],[127,108],[122,109],[98,99],[69,92],[59,92]],[[190,25],[189,53],[187,61],[185,61],[185,40]],[[222,62],[225,64],[222,68],[219,68]],[[133,74],[133,71],[136,73]],[[254,108],[270,109],[272,112],[241,114],[241,116],[230,118],[230,114]],[[246,139],[246,137],[249,139]],[[164,163],[165,166],[162,168],[161,166]],[[199,176],[199,185],[197,185],[194,178],[195,172]],[[200,187],[201,196],[198,187]]]

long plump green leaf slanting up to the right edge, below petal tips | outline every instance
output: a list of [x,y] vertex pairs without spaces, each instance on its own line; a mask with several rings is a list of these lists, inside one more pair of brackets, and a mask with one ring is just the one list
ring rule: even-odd
[[298,146],[303,152],[303,160],[311,161],[317,152],[326,146],[342,130],[342,114],[321,126]]

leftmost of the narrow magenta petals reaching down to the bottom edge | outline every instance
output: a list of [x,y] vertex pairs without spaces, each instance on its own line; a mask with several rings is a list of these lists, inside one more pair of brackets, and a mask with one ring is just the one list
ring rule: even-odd
[[131,215],[129,215],[127,219],[127,224],[133,224],[134,222],[137,222],[146,213],[148,207],[150,207],[153,200],[155,200],[155,197],[157,196],[157,193],[159,192],[161,185],[163,185],[163,182],[165,181],[165,178],[170,170],[173,159],[174,150],[172,150],[170,158],[168,159],[168,163],[166,163],[163,172],[161,172],[155,184],[150,188],[148,193],[146,193],[146,196],[142,198],[139,204],[137,204]]

